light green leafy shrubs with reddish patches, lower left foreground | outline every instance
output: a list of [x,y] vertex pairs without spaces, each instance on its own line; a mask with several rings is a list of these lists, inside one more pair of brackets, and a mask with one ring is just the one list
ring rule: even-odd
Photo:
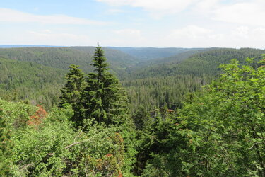
[[[10,164],[11,176],[118,176],[129,174],[131,155],[128,142],[124,139],[126,132],[122,127],[106,126],[85,122],[76,130],[69,118],[73,115],[71,107],[53,108],[38,125],[23,127],[13,125],[13,120],[21,115],[33,115],[34,108],[24,103],[1,101],[6,125],[11,126],[14,144],[13,154],[8,153],[8,144],[1,145],[1,165]],[[2,111],[1,111],[2,112]],[[3,117],[3,116],[2,116]],[[3,120],[1,117],[1,120]],[[25,120],[28,122],[28,120]],[[13,125],[13,126],[12,126]],[[1,128],[1,135],[2,135]],[[9,130],[9,129],[8,129]],[[4,132],[7,132],[6,129]],[[122,133],[118,133],[122,132]],[[127,133],[128,134],[128,133]],[[128,136],[128,135],[127,135]],[[131,136],[131,135],[130,135]],[[2,138],[2,137],[1,137]],[[6,139],[5,139],[6,142]],[[134,152],[130,152],[134,153]],[[2,156],[3,155],[3,156]],[[6,156],[9,156],[8,159]],[[2,170],[2,169],[1,169]],[[2,173],[1,173],[2,174]],[[3,176],[3,175],[2,175]]]

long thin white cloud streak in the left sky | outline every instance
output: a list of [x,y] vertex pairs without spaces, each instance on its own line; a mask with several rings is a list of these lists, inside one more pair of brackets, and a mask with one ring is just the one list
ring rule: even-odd
[[47,24],[72,24],[72,25],[106,25],[101,21],[91,21],[85,18],[76,18],[65,15],[40,16],[24,13],[8,8],[0,8],[0,22],[8,23],[47,23]]

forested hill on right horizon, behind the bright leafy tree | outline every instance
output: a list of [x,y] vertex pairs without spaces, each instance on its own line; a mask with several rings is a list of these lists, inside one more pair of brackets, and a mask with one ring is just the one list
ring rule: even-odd
[[131,73],[131,77],[134,78],[146,78],[150,76],[175,76],[177,74],[194,74],[201,76],[210,74],[212,76],[218,76],[218,66],[220,64],[227,64],[231,59],[239,59],[242,63],[247,57],[253,57],[254,60],[259,61],[265,50],[257,50],[251,48],[242,49],[213,49],[206,52],[199,52],[187,59],[183,59],[179,62],[176,59],[174,62],[161,63],[150,65],[148,67],[135,69]]

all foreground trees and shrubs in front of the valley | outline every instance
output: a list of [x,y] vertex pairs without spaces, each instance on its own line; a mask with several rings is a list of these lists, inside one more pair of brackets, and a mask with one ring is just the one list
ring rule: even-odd
[[0,176],[265,176],[265,60],[233,59],[198,93],[185,94],[206,84],[196,75],[131,81],[156,93],[157,80],[194,88],[172,84],[149,103],[157,109],[138,103],[133,114],[100,47],[92,65],[90,74],[71,65],[48,113],[0,100]]

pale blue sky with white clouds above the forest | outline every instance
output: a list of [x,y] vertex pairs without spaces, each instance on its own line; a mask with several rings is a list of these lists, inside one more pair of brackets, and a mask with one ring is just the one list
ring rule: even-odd
[[265,48],[265,0],[1,0],[0,45]]

